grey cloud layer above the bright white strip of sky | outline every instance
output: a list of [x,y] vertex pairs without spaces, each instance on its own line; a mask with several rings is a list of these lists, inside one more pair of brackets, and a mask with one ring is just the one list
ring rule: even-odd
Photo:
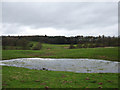
[[88,30],[117,24],[117,3],[3,3],[3,23]]

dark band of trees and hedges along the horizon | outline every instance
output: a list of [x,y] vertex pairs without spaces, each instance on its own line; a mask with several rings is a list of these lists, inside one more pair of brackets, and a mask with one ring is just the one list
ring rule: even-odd
[[120,46],[119,37],[110,36],[2,36],[2,46],[5,49],[7,46],[18,46],[22,49],[30,49],[33,45],[29,42],[39,42],[48,44],[70,44],[72,48],[74,44],[77,44],[77,48],[94,48],[94,47],[117,47]]

